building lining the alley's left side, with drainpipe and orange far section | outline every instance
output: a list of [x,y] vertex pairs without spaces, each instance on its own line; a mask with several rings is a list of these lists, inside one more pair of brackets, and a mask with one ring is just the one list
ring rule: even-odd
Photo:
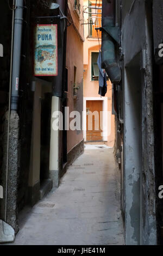
[[[68,164],[84,151],[82,129],[64,129],[65,107],[83,111],[82,9],[83,1],[73,0],[1,1],[0,219],[15,233],[18,212],[58,187]],[[41,25],[57,25],[57,76],[35,76],[34,36]],[[41,47],[36,58],[43,63],[52,55]],[[48,70],[53,65],[49,61]],[[56,111],[63,116],[61,130],[53,129]]]

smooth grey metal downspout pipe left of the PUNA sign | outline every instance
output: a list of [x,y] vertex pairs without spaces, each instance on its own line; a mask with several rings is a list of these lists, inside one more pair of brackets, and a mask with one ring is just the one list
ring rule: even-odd
[[23,0],[17,0],[14,18],[14,48],[12,64],[11,110],[18,108],[18,87],[20,80],[21,44],[23,28]]

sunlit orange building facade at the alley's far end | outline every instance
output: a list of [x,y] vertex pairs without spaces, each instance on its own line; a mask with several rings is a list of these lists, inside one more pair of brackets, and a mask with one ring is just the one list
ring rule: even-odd
[[[104,142],[109,147],[115,143],[115,117],[112,115],[112,84],[107,81],[105,96],[99,95],[99,69],[97,59],[101,50],[102,2],[84,1],[84,118],[85,142]],[[99,127],[90,127],[90,112],[98,113]],[[90,121],[91,122],[91,121]],[[92,118],[96,126],[96,121]],[[91,129],[92,128],[92,129]]]

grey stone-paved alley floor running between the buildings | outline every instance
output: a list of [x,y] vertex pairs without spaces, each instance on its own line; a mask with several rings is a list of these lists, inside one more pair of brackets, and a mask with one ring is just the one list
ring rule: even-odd
[[60,187],[20,216],[11,245],[123,245],[113,150],[86,145]]

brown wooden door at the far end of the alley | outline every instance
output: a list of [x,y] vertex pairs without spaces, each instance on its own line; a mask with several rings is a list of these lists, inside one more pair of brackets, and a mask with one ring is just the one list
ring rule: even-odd
[[[102,100],[86,101],[86,141],[87,142],[103,141],[102,111],[103,111]],[[92,115],[91,113],[93,112],[96,112],[96,114]]]

